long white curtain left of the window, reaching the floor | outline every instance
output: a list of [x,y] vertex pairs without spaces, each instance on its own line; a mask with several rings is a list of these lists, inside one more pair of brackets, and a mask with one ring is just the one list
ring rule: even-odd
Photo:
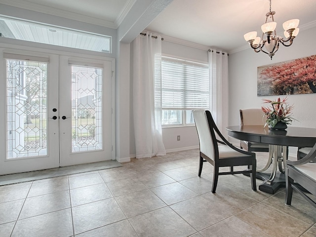
[[[155,35],[156,36],[156,35]],[[136,158],[164,156],[161,130],[161,37],[133,41],[133,108]]]

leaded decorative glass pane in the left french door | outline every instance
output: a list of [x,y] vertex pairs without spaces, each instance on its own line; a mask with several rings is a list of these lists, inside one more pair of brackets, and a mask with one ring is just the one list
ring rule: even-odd
[[7,159],[47,155],[47,63],[6,59]]

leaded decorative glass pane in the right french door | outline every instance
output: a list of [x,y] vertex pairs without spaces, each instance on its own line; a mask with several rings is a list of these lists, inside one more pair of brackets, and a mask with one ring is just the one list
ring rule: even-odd
[[72,66],[72,153],[103,149],[102,71]]

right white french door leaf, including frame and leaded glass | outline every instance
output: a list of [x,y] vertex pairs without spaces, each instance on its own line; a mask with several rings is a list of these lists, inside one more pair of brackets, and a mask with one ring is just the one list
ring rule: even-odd
[[60,56],[61,166],[113,158],[112,61]]

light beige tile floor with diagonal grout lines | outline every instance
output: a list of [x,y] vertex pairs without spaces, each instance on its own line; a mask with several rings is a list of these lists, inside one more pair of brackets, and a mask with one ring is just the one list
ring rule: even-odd
[[287,206],[284,189],[254,192],[249,177],[225,175],[212,194],[212,166],[201,177],[197,167],[191,150],[1,186],[0,237],[316,236],[316,210],[297,193]]

